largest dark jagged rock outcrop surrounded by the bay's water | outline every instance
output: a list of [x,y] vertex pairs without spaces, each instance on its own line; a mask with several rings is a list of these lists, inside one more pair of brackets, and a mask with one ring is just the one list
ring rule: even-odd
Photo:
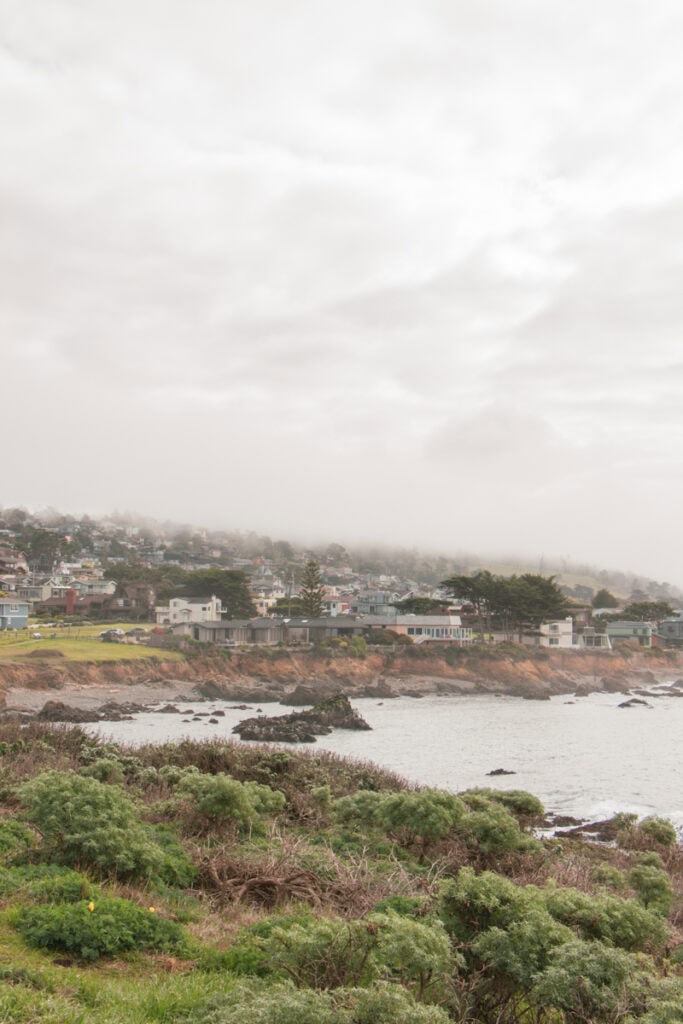
[[247,718],[234,726],[241,739],[261,743],[312,743],[333,729],[370,729],[371,726],[351,708],[343,693],[316,703],[308,711],[276,715],[274,718]]

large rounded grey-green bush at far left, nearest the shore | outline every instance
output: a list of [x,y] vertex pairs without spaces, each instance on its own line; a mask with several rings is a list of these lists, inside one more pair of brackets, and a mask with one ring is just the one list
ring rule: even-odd
[[26,782],[19,796],[46,860],[128,879],[151,878],[164,863],[135,805],[116,785],[48,771]]

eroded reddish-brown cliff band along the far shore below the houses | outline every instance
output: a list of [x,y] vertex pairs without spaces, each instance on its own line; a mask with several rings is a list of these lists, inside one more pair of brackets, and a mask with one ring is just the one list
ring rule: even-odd
[[400,693],[511,693],[547,697],[592,690],[627,691],[683,675],[683,653],[584,652],[500,648],[463,650],[449,656],[420,649],[373,650],[365,658],[326,656],[314,650],[249,650],[187,660],[98,664],[37,659],[0,666],[0,693],[8,689],[61,690],[87,686],[183,682],[207,693],[242,697],[255,692],[279,699],[297,686],[317,693],[391,696]]

